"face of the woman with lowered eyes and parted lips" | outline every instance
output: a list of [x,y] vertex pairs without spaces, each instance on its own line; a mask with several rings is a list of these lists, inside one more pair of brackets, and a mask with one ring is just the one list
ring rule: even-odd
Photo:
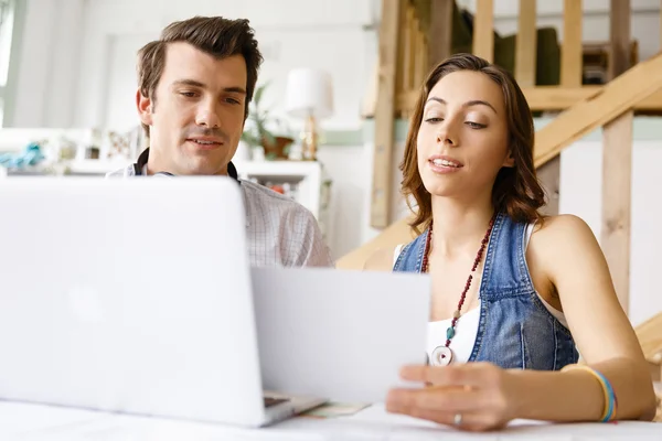
[[416,141],[430,194],[491,194],[499,170],[513,165],[501,87],[480,72],[447,74],[427,97]]

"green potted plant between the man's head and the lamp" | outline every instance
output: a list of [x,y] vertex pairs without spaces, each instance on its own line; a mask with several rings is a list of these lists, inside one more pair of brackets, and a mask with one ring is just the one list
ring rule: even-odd
[[295,142],[289,136],[277,136],[269,129],[267,125],[274,122],[281,127],[281,120],[271,118],[268,109],[263,109],[261,98],[268,83],[258,86],[253,96],[253,104],[248,111],[246,128],[242,133],[242,140],[249,147],[263,147],[265,149],[265,158],[268,160],[282,160],[289,158],[289,148]]

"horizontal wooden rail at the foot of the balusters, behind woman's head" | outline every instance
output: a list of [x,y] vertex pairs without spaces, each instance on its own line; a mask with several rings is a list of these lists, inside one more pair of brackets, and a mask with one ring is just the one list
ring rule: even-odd
[[[531,110],[566,110],[601,93],[604,86],[537,86],[522,87]],[[414,108],[418,90],[408,90],[397,97],[397,108]],[[634,110],[662,110],[662,90],[643,98],[632,106]]]

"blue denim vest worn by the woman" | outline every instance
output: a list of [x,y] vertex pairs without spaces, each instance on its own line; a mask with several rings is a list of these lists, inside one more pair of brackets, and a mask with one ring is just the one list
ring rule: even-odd
[[[535,292],[526,266],[525,234],[526,224],[496,215],[484,254],[480,319],[469,362],[558,370],[577,363],[579,356],[570,332]],[[394,271],[420,272],[427,235],[428,230],[403,248]]]

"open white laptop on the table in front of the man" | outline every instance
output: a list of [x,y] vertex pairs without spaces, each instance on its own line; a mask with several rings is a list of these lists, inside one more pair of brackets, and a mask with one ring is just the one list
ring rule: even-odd
[[14,178],[0,213],[0,399],[259,427],[328,398],[258,347],[233,180]]

